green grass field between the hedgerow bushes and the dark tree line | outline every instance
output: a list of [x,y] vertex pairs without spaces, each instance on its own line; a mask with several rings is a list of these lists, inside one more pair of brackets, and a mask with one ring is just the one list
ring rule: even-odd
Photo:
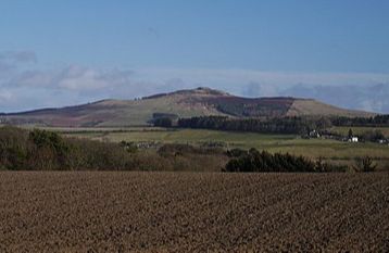
[[106,129],[64,131],[66,136],[101,141],[153,141],[159,143],[188,143],[199,146],[205,142],[222,142],[226,149],[256,148],[269,152],[289,152],[312,159],[349,163],[357,156],[369,155],[380,164],[389,162],[389,146],[378,143],[350,143],[328,139],[302,139],[293,135],[263,135],[253,132],[229,132],[203,129],[129,128],[121,131]]

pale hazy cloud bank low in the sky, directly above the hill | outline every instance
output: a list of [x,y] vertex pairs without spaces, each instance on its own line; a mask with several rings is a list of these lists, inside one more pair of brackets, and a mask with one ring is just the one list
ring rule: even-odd
[[238,96],[309,97],[335,105],[389,113],[389,75],[288,73],[206,68],[92,68],[68,65],[41,69],[35,53],[0,53],[0,112],[63,106],[99,99],[133,99],[206,86]]

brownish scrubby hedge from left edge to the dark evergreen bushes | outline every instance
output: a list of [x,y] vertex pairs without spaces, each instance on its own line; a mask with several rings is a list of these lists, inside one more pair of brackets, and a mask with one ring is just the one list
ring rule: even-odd
[[180,149],[174,154],[167,152],[172,149],[138,152],[134,142],[102,142],[64,138],[39,129],[0,128],[0,168],[10,170],[221,170],[228,160],[221,152],[210,155],[209,149],[202,152]]

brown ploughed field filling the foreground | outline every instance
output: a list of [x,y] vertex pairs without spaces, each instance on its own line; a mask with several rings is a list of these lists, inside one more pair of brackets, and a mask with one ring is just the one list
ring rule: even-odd
[[388,174],[0,174],[0,252],[389,252]]

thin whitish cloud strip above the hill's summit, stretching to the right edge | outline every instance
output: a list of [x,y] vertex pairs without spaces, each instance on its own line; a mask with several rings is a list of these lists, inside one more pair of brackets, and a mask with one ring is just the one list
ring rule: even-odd
[[206,68],[140,68],[139,76],[151,80],[181,78],[199,84],[234,84],[241,86],[250,81],[261,85],[293,86],[312,85],[368,85],[388,83],[388,74],[374,73],[298,73],[261,72],[251,69],[206,69]]

